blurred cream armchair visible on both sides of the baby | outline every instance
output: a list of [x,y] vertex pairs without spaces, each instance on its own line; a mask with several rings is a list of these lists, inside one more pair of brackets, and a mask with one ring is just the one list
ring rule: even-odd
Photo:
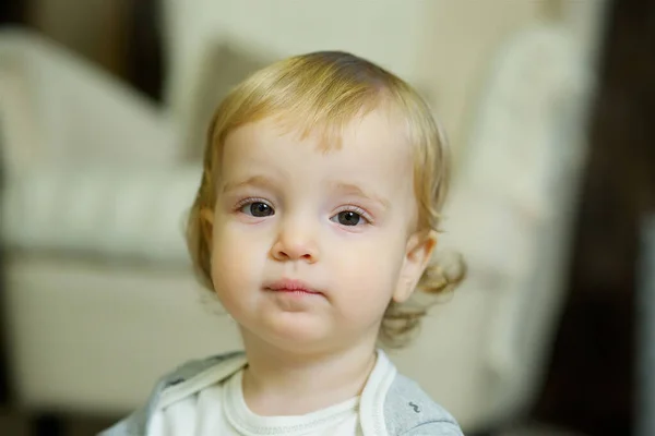
[[[584,158],[579,59],[558,28],[500,52],[445,213],[442,246],[469,278],[391,354],[467,432],[521,416],[545,370]],[[175,117],[61,49],[2,35],[0,60],[16,392],[28,408],[122,414],[181,361],[239,347],[186,257],[196,164]]]

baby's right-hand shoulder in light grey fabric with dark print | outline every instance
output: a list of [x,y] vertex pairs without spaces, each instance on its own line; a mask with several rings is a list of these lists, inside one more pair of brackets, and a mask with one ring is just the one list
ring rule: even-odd
[[455,419],[402,374],[395,376],[386,392],[384,421],[390,435],[462,435]]

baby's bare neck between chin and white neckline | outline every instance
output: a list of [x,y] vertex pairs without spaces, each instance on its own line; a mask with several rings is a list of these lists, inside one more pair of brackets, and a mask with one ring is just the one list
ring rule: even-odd
[[361,393],[376,363],[374,344],[334,353],[293,354],[246,347],[243,398],[259,415],[300,415]]

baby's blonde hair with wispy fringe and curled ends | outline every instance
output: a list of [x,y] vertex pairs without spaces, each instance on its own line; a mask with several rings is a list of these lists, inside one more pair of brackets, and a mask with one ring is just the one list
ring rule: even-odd
[[[451,164],[441,130],[420,96],[394,74],[350,53],[322,51],[288,58],[255,72],[234,88],[210,124],[202,181],[187,228],[194,267],[210,290],[213,290],[211,228],[202,210],[213,210],[215,206],[226,136],[246,123],[273,118],[300,129],[302,136],[319,133],[323,144],[338,146],[340,133],[348,122],[382,105],[402,116],[414,146],[418,230],[439,230]],[[446,274],[432,263],[418,288],[430,294],[443,293],[463,278],[463,268],[458,269]],[[392,347],[405,343],[426,310],[392,302],[382,320],[380,339]]]

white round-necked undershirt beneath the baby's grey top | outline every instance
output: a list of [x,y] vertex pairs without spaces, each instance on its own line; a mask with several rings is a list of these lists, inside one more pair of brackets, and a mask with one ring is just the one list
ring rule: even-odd
[[[389,366],[389,368],[386,367]],[[384,355],[378,355],[373,373],[393,370]],[[359,397],[305,415],[261,416],[246,404],[240,370],[224,382],[184,397],[153,415],[152,436],[360,436]],[[383,384],[369,377],[366,389]]]

